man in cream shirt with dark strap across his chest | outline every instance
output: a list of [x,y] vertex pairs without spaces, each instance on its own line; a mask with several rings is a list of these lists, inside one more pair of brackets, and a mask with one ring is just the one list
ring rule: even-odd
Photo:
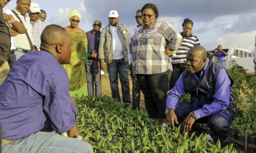
[[16,59],[18,60],[25,53],[30,50],[35,50],[33,35],[32,35],[32,26],[30,23],[30,18],[27,15],[29,12],[31,0],[17,0],[16,8],[12,11],[14,15],[25,25],[27,32],[25,34],[18,34],[15,36],[15,40],[17,43],[14,54],[16,55]]

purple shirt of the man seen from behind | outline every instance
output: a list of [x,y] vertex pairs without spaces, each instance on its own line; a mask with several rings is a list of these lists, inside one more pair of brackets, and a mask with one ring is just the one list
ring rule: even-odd
[[47,117],[57,132],[72,129],[77,110],[71,104],[69,84],[66,70],[50,53],[41,50],[19,58],[0,86],[3,138],[18,139],[38,132]]

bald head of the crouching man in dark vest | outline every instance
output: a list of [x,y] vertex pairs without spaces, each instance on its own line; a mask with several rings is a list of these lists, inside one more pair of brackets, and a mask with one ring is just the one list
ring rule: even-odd
[[207,62],[206,50],[201,45],[196,45],[190,48],[186,56],[186,65],[190,73],[196,73],[202,71]]

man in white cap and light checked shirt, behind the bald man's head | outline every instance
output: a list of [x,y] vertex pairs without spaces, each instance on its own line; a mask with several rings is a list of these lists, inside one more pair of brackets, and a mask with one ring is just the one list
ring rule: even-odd
[[46,24],[45,22],[38,19],[39,14],[41,13],[40,7],[38,4],[31,2],[30,9],[29,9],[29,17],[30,23],[32,24],[32,34],[34,38],[34,45],[36,46],[37,50],[40,50],[40,36],[42,31],[45,29]]

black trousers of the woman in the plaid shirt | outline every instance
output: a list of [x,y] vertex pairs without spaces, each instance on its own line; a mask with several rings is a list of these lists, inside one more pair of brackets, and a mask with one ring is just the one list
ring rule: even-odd
[[171,70],[157,74],[137,74],[140,89],[144,94],[146,111],[151,118],[166,118],[165,101],[171,75]]

